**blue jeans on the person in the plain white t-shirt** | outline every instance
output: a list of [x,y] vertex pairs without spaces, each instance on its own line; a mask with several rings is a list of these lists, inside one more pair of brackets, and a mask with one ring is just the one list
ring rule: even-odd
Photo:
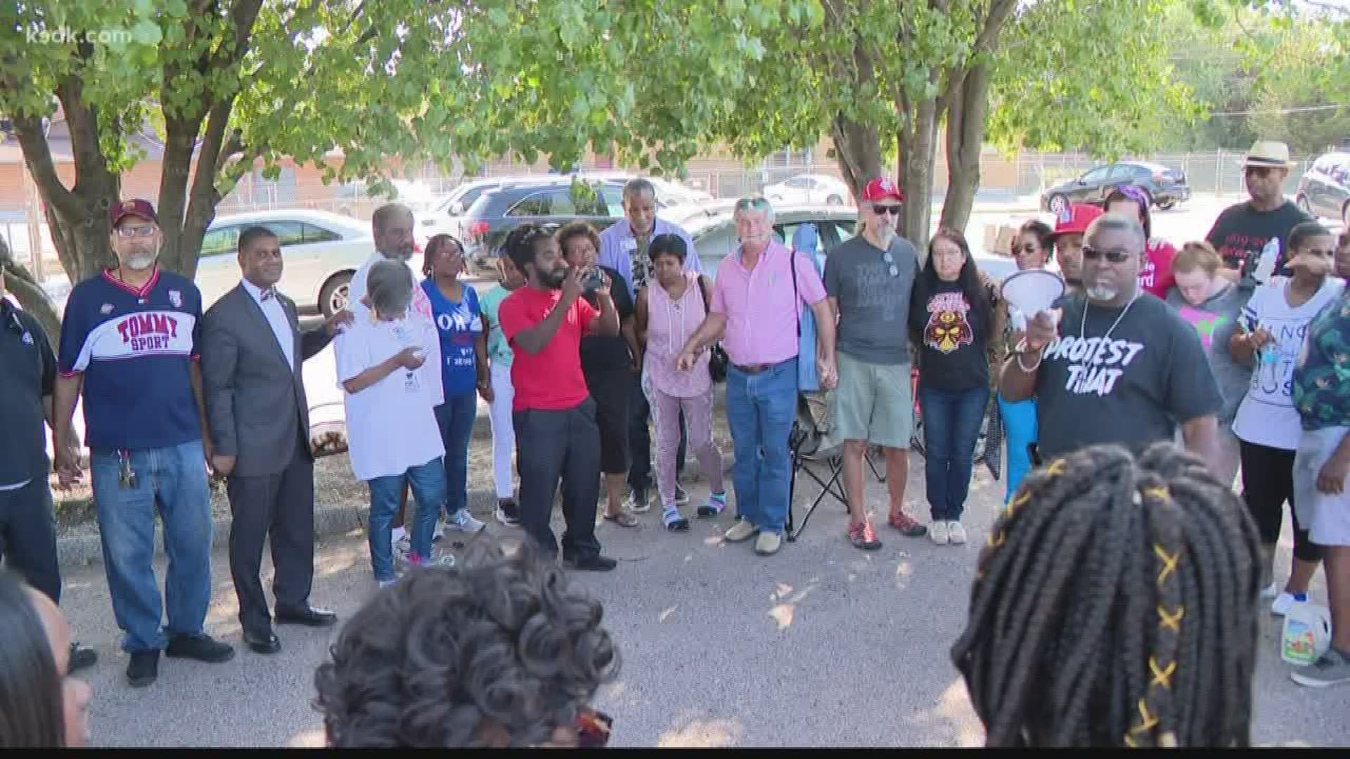
[[379,582],[394,579],[392,525],[398,513],[405,478],[412,483],[413,497],[417,498],[417,516],[413,517],[410,531],[414,555],[431,556],[436,517],[440,516],[440,505],[446,502],[446,470],[441,456],[409,467],[404,474],[377,477],[367,483],[370,485],[370,569]]

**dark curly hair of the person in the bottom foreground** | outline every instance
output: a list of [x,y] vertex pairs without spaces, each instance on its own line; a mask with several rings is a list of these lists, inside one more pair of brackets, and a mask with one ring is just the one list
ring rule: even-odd
[[333,747],[540,745],[620,666],[598,601],[526,540],[478,539],[356,613],[315,674]]

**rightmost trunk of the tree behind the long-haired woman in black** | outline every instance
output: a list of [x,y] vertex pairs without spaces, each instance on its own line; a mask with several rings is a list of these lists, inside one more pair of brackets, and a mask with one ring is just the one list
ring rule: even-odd
[[977,65],[953,85],[946,112],[946,197],[944,227],[965,230],[980,188],[980,147],[988,112],[990,69]]

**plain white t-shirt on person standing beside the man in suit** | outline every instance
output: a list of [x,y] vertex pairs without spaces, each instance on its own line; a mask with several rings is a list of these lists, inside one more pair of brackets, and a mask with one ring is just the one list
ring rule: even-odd
[[[371,321],[369,312],[335,340],[338,381],[346,382],[405,347],[429,351],[440,338],[420,320]],[[433,392],[440,365],[428,359],[409,371],[398,367],[359,393],[343,389],[347,452],[356,479],[402,474],[446,454],[436,425]]]

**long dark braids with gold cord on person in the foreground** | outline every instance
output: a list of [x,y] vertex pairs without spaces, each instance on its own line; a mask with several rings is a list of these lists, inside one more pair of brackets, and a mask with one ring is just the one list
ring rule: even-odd
[[988,745],[1247,745],[1260,555],[1231,489],[1172,443],[1031,473],[952,648]]

